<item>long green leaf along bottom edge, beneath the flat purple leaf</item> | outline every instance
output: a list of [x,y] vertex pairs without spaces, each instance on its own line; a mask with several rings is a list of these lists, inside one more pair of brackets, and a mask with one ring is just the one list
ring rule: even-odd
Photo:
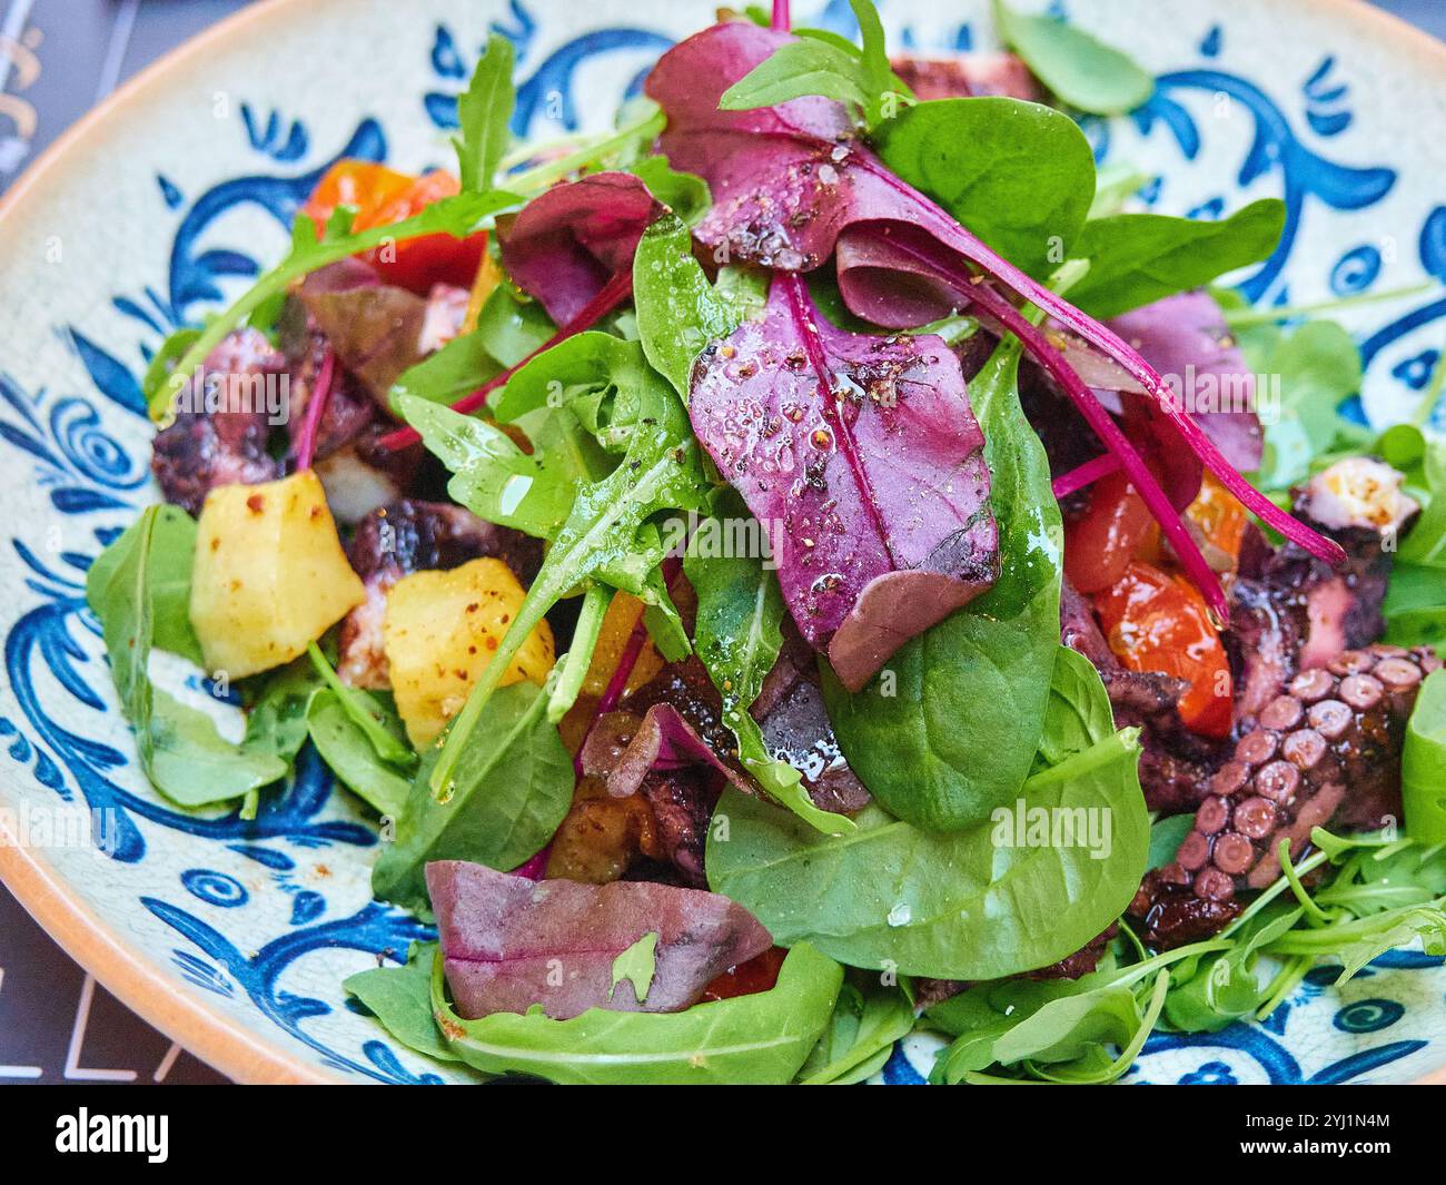
[[486,1074],[580,1085],[784,1085],[818,1042],[842,981],[842,967],[801,943],[771,990],[681,1013],[590,1008],[552,1020],[536,1007],[461,1020],[447,1003],[438,959],[432,1013],[453,1053]]

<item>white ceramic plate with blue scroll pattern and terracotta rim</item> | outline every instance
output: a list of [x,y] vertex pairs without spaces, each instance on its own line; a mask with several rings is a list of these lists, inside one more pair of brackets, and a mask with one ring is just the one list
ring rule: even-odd
[[[1041,7],[1037,3],[1022,7]],[[596,126],[711,0],[275,0],[150,69],[30,169],[0,213],[0,874],[124,1003],[241,1079],[419,1082],[447,1072],[353,1011],[341,981],[422,927],[372,900],[377,836],[315,761],[254,822],[185,815],[134,765],[82,582],[156,498],[139,376],[178,324],[279,258],[338,156],[444,165],[489,29],[518,54],[516,132]],[[850,30],[847,4],[800,22]],[[989,48],[983,0],[885,0],[894,45]],[[1446,279],[1446,48],[1348,0],[1069,0],[1160,74],[1100,155],[1145,200],[1215,217],[1285,201],[1268,302]],[[1366,365],[1348,414],[1414,411],[1446,300],[1345,318]],[[1446,405],[1436,427],[1446,427]],[[95,826],[90,826],[94,820]],[[20,841],[16,844],[14,841]],[[1398,952],[1343,991],[1312,975],[1265,1026],[1157,1036],[1126,1081],[1407,1081],[1446,1066],[1446,969]],[[911,1039],[885,1071],[918,1081]]]

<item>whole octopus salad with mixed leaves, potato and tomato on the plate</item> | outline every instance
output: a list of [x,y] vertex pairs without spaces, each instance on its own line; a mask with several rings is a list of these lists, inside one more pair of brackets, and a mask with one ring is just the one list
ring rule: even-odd
[[454,171],[335,162],[146,375],[163,502],[87,585],[139,764],[252,819],[324,763],[435,927],[346,988],[458,1072],[849,1084],[933,1032],[936,1082],[1109,1082],[1446,953],[1443,368],[1339,417],[1332,310],[1223,279],[1283,204],[1096,169],[1121,49],[852,7],[723,13],[549,145],[495,35]]

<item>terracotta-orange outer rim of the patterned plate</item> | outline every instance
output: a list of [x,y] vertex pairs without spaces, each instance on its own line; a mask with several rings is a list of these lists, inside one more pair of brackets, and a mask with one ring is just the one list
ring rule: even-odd
[[[124,109],[162,85],[213,46],[237,36],[254,36],[273,20],[305,7],[314,14],[322,4],[340,0],[256,0],[197,36],[182,42],[142,69],[36,156],[0,197],[0,242],[7,221],[45,197],[46,185],[59,181],[65,169],[84,163],[84,150],[94,136],[123,117]],[[1270,0],[1277,7],[1299,7],[1301,0]],[[1312,0],[1333,20],[1365,26],[1368,36],[1388,41],[1392,48],[1410,48],[1432,65],[1446,69],[1446,42],[1437,41],[1394,13],[1366,0]],[[74,159],[72,159],[74,158]],[[6,774],[9,781],[13,774]],[[208,1001],[178,990],[158,964],[123,940],[36,852],[22,846],[0,819],[0,883],[20,906],[87,974],[93,975],[121,1004],[178,1042],[185,1050],[241,1084],[353,1084],[354,1079],[328,1071],[291,1050],[276,1037],[247,1027]],[[1413,1079],[1411,1085],[1446,1085],[1446,1063]]]

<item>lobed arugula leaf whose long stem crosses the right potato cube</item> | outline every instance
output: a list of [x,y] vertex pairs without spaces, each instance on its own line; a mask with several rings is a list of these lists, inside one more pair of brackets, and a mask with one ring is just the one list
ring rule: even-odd
[[[479,713],[503,671],[547,612],[573,589],[593,580],[655,603],[656,592],[649,585],[649,576],[662,563],[664,547],[656,530],[643,532],[645,524],[662,511],[706,506],[709,485],[687,414],[667,382],[643,362],[639,346],[609,339],[607,334],[578,334],[532,365],[564,352],[561,357],[577,356],[591,370],[599,365],[599,354],[589,350],[603,349],[596,339],[612,343],[606,350],[617,352],[616,366],[604,366],[603,373],[617,388],[610,431],[616,433],[617,444],[626,441],[623,459],[603,480],[578,486],[567,522],[548,548],[508,634],[453,721],[431,776],[432,790],[440,794],[448,791]],[[626,356],[628,349],[636,354]],[[521,382],[532,365],[508,383],[496,408],[499,420],[547,404],[547,385],[528,389]]]

